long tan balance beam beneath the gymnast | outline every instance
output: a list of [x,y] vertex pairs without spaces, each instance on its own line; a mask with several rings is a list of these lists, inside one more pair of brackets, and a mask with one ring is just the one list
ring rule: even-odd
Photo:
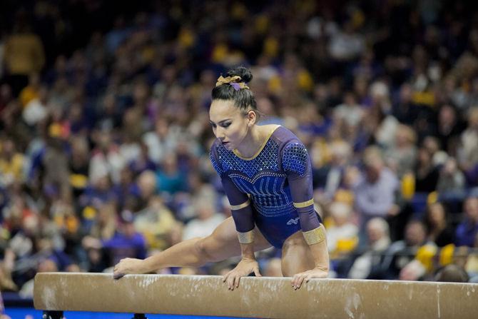
[[252,318],[477,318],[478,284],[314,279],[293,290],[290,278],[246,277],[231,291],[213,275],[114,280],[104,273],[38,273],[34,305],[56,311]]

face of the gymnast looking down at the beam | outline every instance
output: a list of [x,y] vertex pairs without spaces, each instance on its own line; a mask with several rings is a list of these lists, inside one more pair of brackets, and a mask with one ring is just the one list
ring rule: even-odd
[[248,136],[255,123],[255,113],[252,110],[245,113],[232,100],[213,100],[209,108],[209,122],[215,137],[232,151]]

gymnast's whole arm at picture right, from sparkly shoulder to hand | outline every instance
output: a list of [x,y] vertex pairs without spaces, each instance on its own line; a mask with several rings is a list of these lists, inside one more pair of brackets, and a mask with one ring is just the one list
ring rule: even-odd
[[289,143],[283,149],[283,169],[288,176],[293,205],[298,211],[305,242],[309,245],[315,267],[295,274],[293,287],[299,288],[310,278],[326,278],[329,271],[329,253],[325,228],[315,213],[312,198],[312,168],[307,149],[302,143]]

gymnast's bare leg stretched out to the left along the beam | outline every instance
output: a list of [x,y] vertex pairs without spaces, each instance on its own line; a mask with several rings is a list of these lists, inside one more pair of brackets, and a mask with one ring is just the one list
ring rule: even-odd
[[[255,251],[270,246],[256,229]],[[185,240],[144,260],[124,258],[115,265],[113,275],[114,278],[121,278],[131,273],[152,273],[167,267],[198,267],[238,255],[240,255],[238,233],[235,231],[233,218],[230,217],[220,223],[210,236]]]

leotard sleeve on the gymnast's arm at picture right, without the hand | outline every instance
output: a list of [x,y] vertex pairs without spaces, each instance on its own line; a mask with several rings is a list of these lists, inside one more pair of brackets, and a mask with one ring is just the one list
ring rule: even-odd
[[281,156],[302,231],[312,231],[320,226],[321,221],[314,210],[312,164],[307,149],[298,140],[288,141],[283,147]]

